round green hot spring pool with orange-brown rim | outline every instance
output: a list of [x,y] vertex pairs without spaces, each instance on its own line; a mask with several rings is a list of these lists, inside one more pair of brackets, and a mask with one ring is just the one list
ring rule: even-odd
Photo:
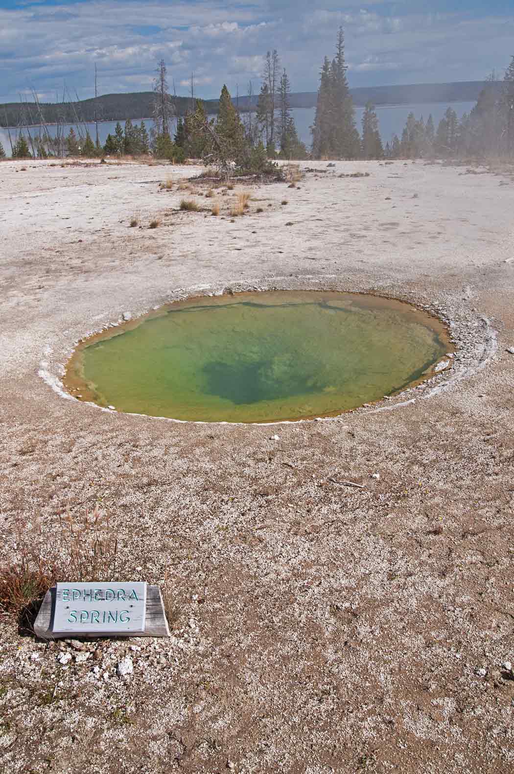
[[[423,378],[442,324],[351,293],[242,293],[171,304],[79,348],[67,382],[119,411],[207,422],[341,413]],[[85,382],[85,385],[84,385]]]

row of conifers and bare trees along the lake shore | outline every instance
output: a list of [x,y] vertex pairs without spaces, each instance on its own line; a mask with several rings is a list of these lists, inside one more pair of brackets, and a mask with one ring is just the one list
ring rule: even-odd
[[[384,146],[379,132],[375,104],[368,101],[362,115],[361,132],[355,121],[355,103],[347,78],[344,59],[344,33],[338,30],[334,58],[324,57],[320,70],[314,124],[311,127],[312,148],[300,141],[293,120],[290,79],[280,62],[277,50],[266,53],[262,82],[253,94],[248,84],[251,111],[238,109],[226,86],[217,101],[217,114],[210,103],[200,99],[177,98],[170,94],[166,63],[157,67],[149,103],[152,129],[144,122],[118,122],[105,146],[98,142],[98,129],[93,140],[85,122],[75,118],[67,135],[62,125],[50,132],[42,123],[37,135],[29,125],[9,139],[12,156],[102,156],[146,155],[181,162],[186,158],[203,159],[218,166],[223,173],[275,173],[276,159],[382,159],[433,158],[514,154],[514,57],[503,80],[494,76],[482,84],[477,103],[460,120],[448,108],[437,127],[431,115],[427,121],[410,113],[401,138],[393,135]],[[193,91],[193,89],[192,89]],[[185,100],[185,102],[178,102]],[[26,106],[27,108],[27,106]],[[27,108],[28,109],[28,108]],[[43,106],[38,105],[40,118]],[[98,113],[96,114],[98,118]],[[175,124],[176,122],[176,124]],[[175,128],[176,125],[176,128]],[[173,132],[173,135],[172,135]],[[5,155],[0,146],[0,156]]]

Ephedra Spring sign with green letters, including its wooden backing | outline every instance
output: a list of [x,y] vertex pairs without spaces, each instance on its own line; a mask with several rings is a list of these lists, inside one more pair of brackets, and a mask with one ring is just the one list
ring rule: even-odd
[[46,593],[34,632],[60,637],[169,637],[159,587],[126,583],[58,583]]

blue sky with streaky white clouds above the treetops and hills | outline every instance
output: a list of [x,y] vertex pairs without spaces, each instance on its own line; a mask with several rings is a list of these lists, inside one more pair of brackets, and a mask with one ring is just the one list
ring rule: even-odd
[[342,25],[351,87],[503,77],[514,0],[0,0],[0,102],[32,91],[148,91],[163,59],[177,94],[259,91],[276,48],[292,91],[316,91]]

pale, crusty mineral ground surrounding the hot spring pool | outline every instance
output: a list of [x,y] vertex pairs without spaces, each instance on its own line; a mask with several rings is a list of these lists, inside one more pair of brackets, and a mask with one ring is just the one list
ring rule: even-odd
[[[234,222],[179,212],[191,194],[159,192],[167,173],[195,169],[0,164],[2,559],[16,523],[53,539],[59,514],[101,502],[120,575],[167,574],[176,605],[170,640],[81,650],[4,616],[0,769],[512,772],[509,170],[336,163],[299,190],[240,187],[261,201]],[[87,332],[228,286],[409,299],[452,321],[458,354],[387,410],[290,425],[52,389]]]

